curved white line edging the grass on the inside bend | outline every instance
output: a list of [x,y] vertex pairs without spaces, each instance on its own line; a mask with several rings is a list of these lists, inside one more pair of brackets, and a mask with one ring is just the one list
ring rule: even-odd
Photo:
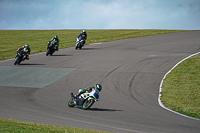
[[198,121],[199,121],[200,119],[197,119],[197,118],[194,118],[194,117],[190,117],[190,116],[187,116],[187,115],[184,115],[184,114],[175,112],[175,111],[173,111],[173,110],[171,110],[171,109],[165,107],[165,105],[161,102],[161,99],[160,99],[160,98],[161,98],[161,94],[160,94],[160,93],[162,92],[163,80],[166,78],[167,74],[169,74],[175,67],[177,67],[177,66],[178,66],[181,62],[183,62],[184,60],[186,60],[186,59],[188,59],[188,58],[190,58],[190,57],[192,57],[192,56],[194,56],[194,55],[198,55],[198,54],[200,54],[200,52],[195,53],[195,54],[192,54],[192,55],[186,57],[185,59],[179,61],[174,67],[172,67],[172,68],[165,74],[165,76],[163,77],[163,79],[162,79],[162,81],[161,81],[161,83],[160,83],[159,96],[158,96],[158,103],[159,103],[159,105],[160,105],[162,108],[164,108],[164,109],[166,109],[166,110],[168,110],[168,111],[170,111],[170,112],[173,112],[173,113],[175,113],[175,114],[178,114],[178,115],[181,115],[181,116],[184,116],[184,117],[187,117],[187,118],[190,118],[190,119],[194,119],[194,120],[198,120]]

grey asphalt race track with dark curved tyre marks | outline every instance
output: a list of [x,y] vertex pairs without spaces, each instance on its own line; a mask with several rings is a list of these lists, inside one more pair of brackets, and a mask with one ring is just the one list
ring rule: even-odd
[[[200,120],[158,103],[165,73],[199,51],[194,31],[60,49],[16,66],[14,59],[2,61],[0,118],[115,133],[199,133]],[[103,89],[91,109],[68,107],[71,92],[96,83]]]

